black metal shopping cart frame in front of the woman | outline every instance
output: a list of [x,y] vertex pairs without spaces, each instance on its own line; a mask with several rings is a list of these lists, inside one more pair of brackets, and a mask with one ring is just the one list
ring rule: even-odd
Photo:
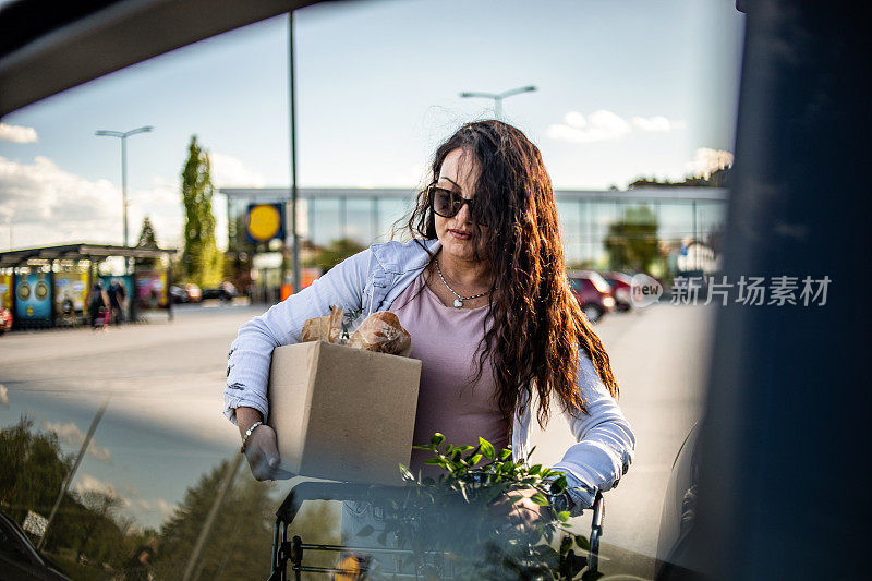
[[[393,556],[398,568],[387,572],[391,579],[452,579],[450,571],[440,568],[440,557],[437,552],[427,555],[433,558],[426,571],[404,573],[399,570],[399,560],[408,558],[414,553],[405,548],[373,548],[355,547],[348,545],[327,545],[304,543],[299,535],[288,538],[288,529],[300,512],[303,504],[311,500],[342,500],[371,503],[373,506],[386,507],[391,500],[399,503],[407,488],[401,486],[372,486],[344,482],[302,482],[293,486],[284,501],[276,511],[276,525],[272,534],[272,564],[269,581],[286,581],[289,579],[288,570],[293,571],[293,579],[300,580],[302,573],[344,574],[348,579],[356,579],[360,571],[342,569],[340,567],[314,567],[303,564],[310,552],[356,555],[390,555]],[[603,495],[597,493],[591,507],[593,519],[591,521],[591,548],[588,555],[577,555],[574,550],[560,557],[560,578],[574,579],[585,567],[588,571],[597,571],[600,567],[600,537],[603,534],[603,518],[605,506]],[[290,565],[289,565],[290,564]]]

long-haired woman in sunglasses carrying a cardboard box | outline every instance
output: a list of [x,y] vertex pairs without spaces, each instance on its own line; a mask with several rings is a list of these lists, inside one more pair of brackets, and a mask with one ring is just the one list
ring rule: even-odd
[[[272,349],[298,342],[303,323],[329,305],[389,310],[423,362],[415,444],[437,431],[457,445],[482,436],[526,458],[535,391],[540,424],[555,401],[578,440],[554,467],[570,489],[553,503],[579,515],[627,471],[635,439],[615,401],[608,355],[569,290],[542,156],[516,128],[481,121],[437,149],[432,171],[408,223],[412,241],[348,258],[240,328],[225,413],[249,433],[254,474],[279,475],[275,433],[263,424],[250,431],[268,413]],[[421,461],[413,453],[412,468]],[[540,507],[523,496],[517,506],[530,521]]]

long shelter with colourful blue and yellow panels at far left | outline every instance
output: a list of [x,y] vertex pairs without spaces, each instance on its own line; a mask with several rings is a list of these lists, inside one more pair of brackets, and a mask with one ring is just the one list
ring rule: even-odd
[[[123,287],[124,318],[147,311],[172,318],[169,254],[158,247],[63,244],[0,253],[0,304],[10,310],[13,328],[46,328],[89,322],[97,281],[104,289]],[[110,257],[124,258],[124,274],[100,274]]]

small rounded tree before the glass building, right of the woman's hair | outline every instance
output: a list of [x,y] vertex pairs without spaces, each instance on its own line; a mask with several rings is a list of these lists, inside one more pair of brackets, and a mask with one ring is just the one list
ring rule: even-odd
[[658,253],[657,218],[646,205],[631,206],[608,227],[604,244],[611,268],[646,271]]

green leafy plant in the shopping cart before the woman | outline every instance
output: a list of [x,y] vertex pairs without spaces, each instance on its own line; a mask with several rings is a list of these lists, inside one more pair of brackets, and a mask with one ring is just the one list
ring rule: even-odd
[[[590,544],[571,532],[569,512],[558,512],[549,503],[549,495],[567,488],[562,473],[523,459],[516,462],[510,449],[497,450],[484,438],[477,446],[453,446],[437,433],[428,445],[415,448],[433,452],[424,463],[440,473],[422,477],[400,465],[405,487],[386,507],[378,534],[382,545],[392,535],[399,548],[412,549],[404,566],[416,567],[423,578],[428,570],[450,570],[453,579],[572,578],[566,557],[570,550],[586,553]],[[522,499],[521,491],[541,507],[529,526],[507,520],[508,509]],[[359,534],[374,533],[367,526]],[[585,573],[582,579],[598,577]]]

